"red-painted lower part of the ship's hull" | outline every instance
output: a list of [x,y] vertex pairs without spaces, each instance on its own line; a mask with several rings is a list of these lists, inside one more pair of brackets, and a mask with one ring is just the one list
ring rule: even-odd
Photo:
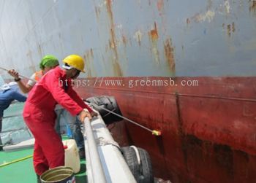
[[[104,78],[118,79],[118,78]],[[120,79],[120,78],[119,78]],[[172,182],[256,182],[256,77],[197,77],[197,87],[78,87],[83,98],[115,96],[129,122],[110,125],[122,146],[135,144],[151,155],[154,174]],[[154,79],[168,79],[151,77]],[[90,80],[95,84],[95,78]]]

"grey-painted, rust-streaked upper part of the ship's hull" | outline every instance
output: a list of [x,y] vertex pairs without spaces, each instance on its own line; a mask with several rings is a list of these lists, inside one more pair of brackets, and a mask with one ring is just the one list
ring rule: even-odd
[[77,53],[82,77],[255,76],[255,1],[1,0],[0,34],[0,65],[25,75]]

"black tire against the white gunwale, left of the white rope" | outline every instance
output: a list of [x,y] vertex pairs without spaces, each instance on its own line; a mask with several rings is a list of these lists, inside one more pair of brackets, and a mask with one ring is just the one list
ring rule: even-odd
[[129,170],[138,182],[140,179],[140,166],[135,153],[135,149],[132,147],[121,147],[121,152],[124,156],[124,160],[127,162]]

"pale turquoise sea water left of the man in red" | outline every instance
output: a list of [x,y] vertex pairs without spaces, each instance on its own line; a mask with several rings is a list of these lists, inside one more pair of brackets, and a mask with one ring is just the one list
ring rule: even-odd
[[18,144],[20,141],[33,138],[23,120],[23,106],[24,103],[15,102],[8,109],[4,110],[1,130],[1,141],[3,144]]

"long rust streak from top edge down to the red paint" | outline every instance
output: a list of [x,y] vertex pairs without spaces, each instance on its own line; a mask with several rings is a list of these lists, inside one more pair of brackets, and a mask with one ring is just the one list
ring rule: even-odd
[[108,10],[108,15],[110,17],[110,48],[114,52],[113,70],[115,71],[116,76],[121,77],[123,73],[118,63],[119,57],[118,57],[118,51],[116,47],[116,33],[115,33],[115,24],[113,20],[113,12],[112,12],[112,0],[106,0],[106,7]]

